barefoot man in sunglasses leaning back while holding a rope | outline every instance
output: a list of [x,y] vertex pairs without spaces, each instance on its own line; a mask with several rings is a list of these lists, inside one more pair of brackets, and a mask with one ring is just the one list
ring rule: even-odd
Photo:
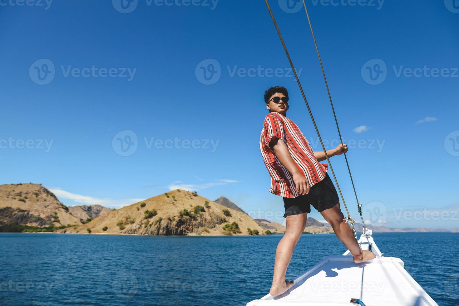
[[[330,223],[340,241],[351,251],[356,263],[375,258],[375,254],[361,250],[352,229],[344,221],[338,194],[327,174],[328,165],[323,151],[313,151],[295,122],[286,117],[289,108],[287,89],[271,87],[264,93],[269,114],[264,119],[260,137],[263,161],[271,176],[269,191],[284,200],[285,234],[280,239],[274,261],[273,284],[270,295],[280,295],[293,285],[285,279],[293,249],[306,227],[311,205]],[[329,157],[347,152],[347,145],[328,150]]]

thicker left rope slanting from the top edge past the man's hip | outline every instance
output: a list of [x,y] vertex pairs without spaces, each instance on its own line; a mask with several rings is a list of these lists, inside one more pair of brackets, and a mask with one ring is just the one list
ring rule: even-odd
[[287,47],[285,46],[284,39],[282,39],[282,35],[280,34],[279,27],[277,26],[277,22],[274,19],[274,15],[273,15],[273,12],[271,11],[271,7],[269,6],[268,0],[264,0],[264,2],[266,3],[266,6],[268,7],[268,11],[269,11],[269,14],[271,15],[271,19],[273,19],[274,27],[276,27],[277,34],[279,35],[280,41],[282,43],[282,46],[284,47],[285,55],[287,56],[288,61],[290,63],[290,66],[291,66],[291,68],[293,70],[293,73],[295,74],[295,78],[297,79],[297,83],[298,83],[298,86],[300,87],[300,91],[301,91],[301,94],[303,96],[304,102],[306,103],[306,106],[308,107],[309,115],[311,116],[311,119],[312,119],[313,124],[314,124],[314,128],[315,128],[317,136],[319,137],[319,140],[320,140],[320,144],[322,145],[322,149],[324,150],[325,157],[327,158],[328,164],[330,166],[331,173],[333,174],[333,178],[335,179],[336,187],[338,188],[338,191],[340,193],[341,200],[342,200],[342,202],[344,204],[344,208],[346,208],[347,217],[344,218],[344,221],[346,221],[346,223],[351,225],[352,231],[354,233],[354,237],[355,237],[356,240],[358,240],[357,239],[357,233],[355,232],[355,228],[354,228],[354,220],[351,218],[351,215],[349,214],[349,210],[347,209],[346,201],[344,200],[344,197],[343,197],[343,195],[341,193],[341,188],[340,188],[340,186],[338,184],[338,181],[336,179],[336,175],[335,175],[335,172],[333,171],[333,167],[331,167],[331,162],[330,162],[330,159],[328,157],[327,150],[325,150],[325,145],[324,145],[324,142],[322,141],[322,137],[320,137],[319,129],[317,128],[317,124],[316,124],[316,122],[314,120],[313,113],[311,111],[311,108],[309,107],[309,103],[308,103],[308,100],[306,99],[306,95],[304,95],[304,91],[303,91],[303,88],[301,86],[300,79],[298,78],[298,75],[297,75],[297,71],[296,71],[295,67],[293,66],[293,62],[291,61],[291,58],[290,58],[290,55],[288,53]]

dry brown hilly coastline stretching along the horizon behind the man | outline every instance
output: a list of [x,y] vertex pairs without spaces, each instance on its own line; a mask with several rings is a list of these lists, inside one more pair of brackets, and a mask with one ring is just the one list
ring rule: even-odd
[[[354,224],[358,232],[362,224]],[[454,232],[458,228],[371,227],[374,232]],[[196,192],[176,189],[141,202],[109,209],[100,205],[65,206],[41,184],[0,185],[0,232],[56,232],[137,235],[270,235],[285,226],[253,219],[225,197],[211,201]],[[308,217],[308,234],[333,229]]]

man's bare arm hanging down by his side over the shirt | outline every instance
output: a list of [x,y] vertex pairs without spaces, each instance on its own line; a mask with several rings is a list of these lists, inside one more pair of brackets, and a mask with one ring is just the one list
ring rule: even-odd
[[[295,183],[295,191],[300,195],[306,195],[309,192],[309,182],[304,177],[303,173],[298,169],[297,164],[291,158],[287,145],[282,139],[273,137],[269,142],[269,147],[274,151],[277,159],[279,159],[282,166],[284,166],[293,177]],[[323,152],[322,152],[323,153]]]

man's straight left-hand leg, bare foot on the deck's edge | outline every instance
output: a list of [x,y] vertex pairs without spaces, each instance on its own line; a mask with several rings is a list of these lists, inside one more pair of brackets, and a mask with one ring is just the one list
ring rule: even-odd
[[271,286],[271,289],[269,289],[270,295],[280,295],[293,285],[293,281],[285,279],[285,273],[287,272],[287,267],[290,264],[293,249],[295,248],[295,245],[297,245],[297,242],[306,227],[307,217],[307,212],[285,217],[287,226],[285,228],[284,237],[280,239],[276,249],[273,285]]

